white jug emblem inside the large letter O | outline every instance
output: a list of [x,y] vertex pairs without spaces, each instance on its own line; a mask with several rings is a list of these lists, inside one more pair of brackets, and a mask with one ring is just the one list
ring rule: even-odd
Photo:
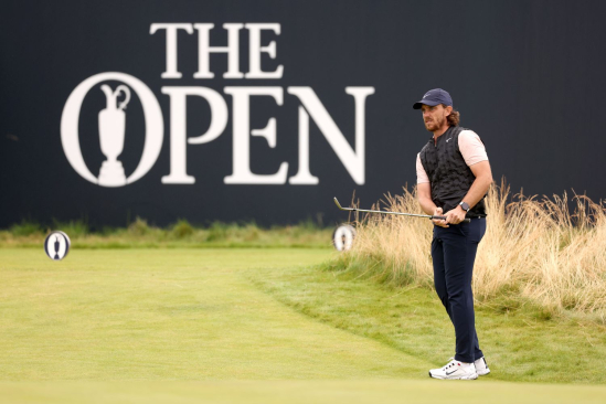
[[[106,161],[103,162],[99,172],[99,184],[105,187],[119,187],[126,183],[123,163],[118,156],[124,149],[124,134],[126,116],[124,109],[130,100],[130,89],[119,85],[114,92],[104,84],[100,89],[105,93],[107,106],[99,113],[100,148]],[[118,105],[118,95],[124,93],[125,99]]]

